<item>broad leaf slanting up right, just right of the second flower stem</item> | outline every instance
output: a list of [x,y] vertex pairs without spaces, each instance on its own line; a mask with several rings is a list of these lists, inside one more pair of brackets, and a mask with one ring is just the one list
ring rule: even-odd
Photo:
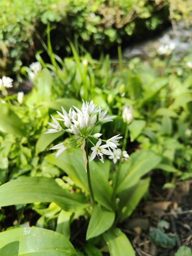
[[131,159],[122,164],[117,193],[137,184],[140,178],[150,170],[156,168],[161,157],[150,149],[143,149],[131,154]]

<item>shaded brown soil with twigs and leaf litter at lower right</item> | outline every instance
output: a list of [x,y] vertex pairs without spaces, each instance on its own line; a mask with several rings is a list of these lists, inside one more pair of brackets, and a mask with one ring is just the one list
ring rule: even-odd
[[[162,189],[161,173],[152,175],[147,201],[143,201],[131,218],[121,226],[130,239],[137,256],[175,256],[182,245],[192,249],[192,180],[176,183],[175,189]],[[177,235],[172,248],[156,246],[149,239],[151,227],[160,221],[170,224],[165,233]]]

